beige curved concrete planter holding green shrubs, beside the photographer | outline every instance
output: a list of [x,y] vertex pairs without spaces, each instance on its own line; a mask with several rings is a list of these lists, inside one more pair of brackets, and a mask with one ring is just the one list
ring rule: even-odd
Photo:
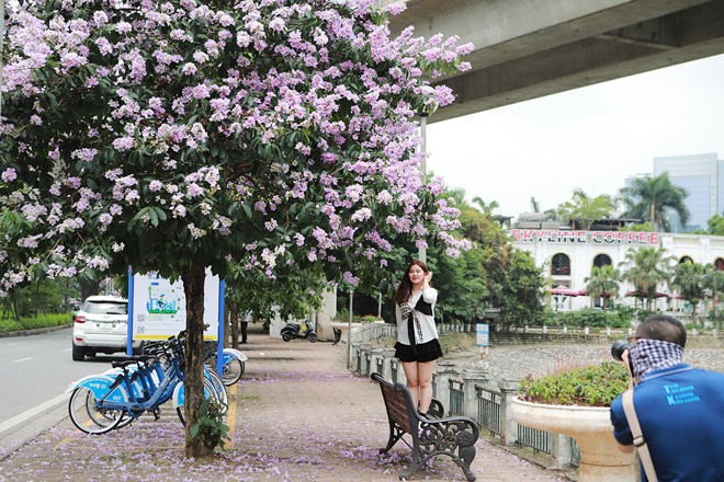
[[519,424],[564,434],[578,443],[578,482],[633,481],[634,456],[619,451],[610,411],[609,408],[530,403],[518,397],[511,403],[511,416]]

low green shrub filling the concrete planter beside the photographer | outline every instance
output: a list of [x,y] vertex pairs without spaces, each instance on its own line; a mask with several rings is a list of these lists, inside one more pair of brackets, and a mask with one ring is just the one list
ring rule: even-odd
[[584,368],[562,370],[540,378],[531,375],[520,382],[521,400],[553,405],[610,406],[629,388],[623,364],[603,362]]

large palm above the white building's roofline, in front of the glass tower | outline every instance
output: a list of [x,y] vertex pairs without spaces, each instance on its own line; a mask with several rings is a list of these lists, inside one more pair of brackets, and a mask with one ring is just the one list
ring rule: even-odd
[[624,215],[647,217],[652,226],[656,226],[659,231],[667,227],[664,219],[666,209],[674,209],[679,215],[681,225],[687,223],[689,210],[685,200],[688,194],[683,187],[671,184],[668,172],[656,176],[637,177],[631,186],[621,190],[625,206]]

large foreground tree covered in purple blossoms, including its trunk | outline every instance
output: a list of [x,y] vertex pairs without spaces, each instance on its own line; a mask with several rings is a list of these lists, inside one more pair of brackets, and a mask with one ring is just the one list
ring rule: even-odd
[[372,0],[33,0],[2,53],[0,290],[38,271],[181,277],[189,427],[202,395],[204,268],[355,283],[399,237],[444,243],[457,210],[423,185],[429,79],[471,46],[392,37]]

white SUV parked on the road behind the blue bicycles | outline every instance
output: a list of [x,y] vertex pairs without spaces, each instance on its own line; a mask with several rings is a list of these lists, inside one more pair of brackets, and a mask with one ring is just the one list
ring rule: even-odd
[[[125,352],[128,335],[128,300],[116,296],[89,296],[72,317],[72,359],[82,362],[97,353]],[[134,352],[140,341],[133,344]]]

